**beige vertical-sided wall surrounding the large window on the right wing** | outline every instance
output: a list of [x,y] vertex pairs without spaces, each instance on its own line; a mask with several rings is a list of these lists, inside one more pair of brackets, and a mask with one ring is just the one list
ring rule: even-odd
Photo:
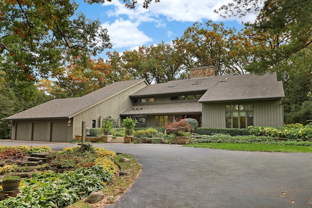
[[253,104],[254,126],[279,127],[284,125],[282,99],[228,103],[203,103],[202,127],[226,128],[225,105]]

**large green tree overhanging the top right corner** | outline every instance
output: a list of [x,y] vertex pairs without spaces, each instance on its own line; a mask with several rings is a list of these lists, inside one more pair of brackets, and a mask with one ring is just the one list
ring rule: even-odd
[[[263,5],[263,6],[262,6]],[[243,16],[259,12],[254,23],[246,23],[249,38],[262,46],[254,50],[254,62],[246,70],[265,73],[277,63],[311,46],[312,0],[233,0],[216,12]]]

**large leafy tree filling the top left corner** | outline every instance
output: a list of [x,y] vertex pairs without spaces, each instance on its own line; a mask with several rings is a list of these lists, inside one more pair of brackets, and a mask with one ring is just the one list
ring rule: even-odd
[[107,30],[98,20],[75,14],[77,8],[74,0],[2,2],[0,69],[31,81],[58,71],[72,56],[87,65],[88,57],[110,48]]

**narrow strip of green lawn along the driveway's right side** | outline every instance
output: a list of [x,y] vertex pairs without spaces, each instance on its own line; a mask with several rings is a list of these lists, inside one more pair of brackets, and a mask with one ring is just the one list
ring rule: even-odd
[[312,152],[312,147],[268,144],[237,144],[237,143],[198,143],[187,144],[185,147],[197,147],[238,151],[279,151],[279,152]]

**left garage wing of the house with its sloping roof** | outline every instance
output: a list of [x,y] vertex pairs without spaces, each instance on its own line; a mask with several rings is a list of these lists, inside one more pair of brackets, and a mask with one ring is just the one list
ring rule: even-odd
[[12,121],[11,139],[71,142],[81,134],[83,120],[96,128],[102,117],[118,118],[133,105],[129,95],[146,85],[145,79],[115,82],[82,97],[54,99],[17,113],[6,118]]

